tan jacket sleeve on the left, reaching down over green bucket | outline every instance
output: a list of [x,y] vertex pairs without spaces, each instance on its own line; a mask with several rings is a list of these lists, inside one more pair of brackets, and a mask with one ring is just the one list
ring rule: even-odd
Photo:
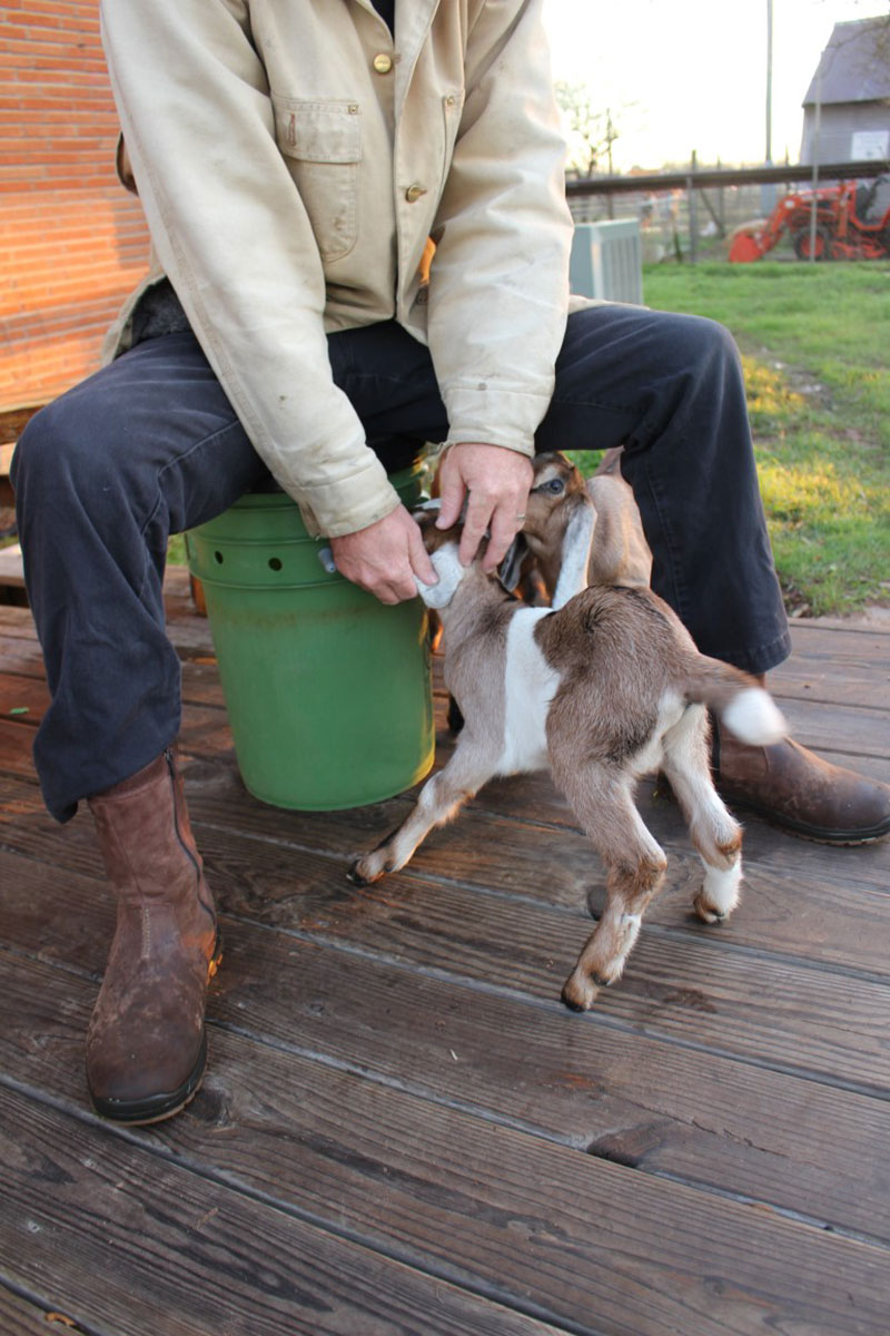
[[335,537],[399,498],[332,381],[322,261],[248,9],[103,0],[103,41],[159,259],[255,449],[310,529]]

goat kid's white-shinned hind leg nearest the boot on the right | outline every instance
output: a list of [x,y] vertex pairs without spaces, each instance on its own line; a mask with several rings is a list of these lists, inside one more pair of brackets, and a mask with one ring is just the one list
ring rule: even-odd
[[705,866],[705,883],[693,907],[703,923],[719,923],[739,900],[742,827],[714,788],[703,705],[690,705],[664,735],[663,770]]

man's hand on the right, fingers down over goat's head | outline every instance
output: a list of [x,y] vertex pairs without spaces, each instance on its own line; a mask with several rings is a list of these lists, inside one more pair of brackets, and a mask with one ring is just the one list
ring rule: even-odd
[[482,569],[491,572],[500,565],[526,517],[532,477],[531,461],[500,445],[467,442],[446,450],[439,470],[442,510],[436,526],[448,529],[455,524],[470,493],[459,550],[464,566],[475,557],[486,529],[491,538]]

